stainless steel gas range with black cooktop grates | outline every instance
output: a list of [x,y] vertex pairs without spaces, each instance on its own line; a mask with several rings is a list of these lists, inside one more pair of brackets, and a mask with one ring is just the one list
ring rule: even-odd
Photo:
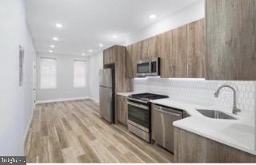
[[128,129],[136,136],[151,142],[150,100],[168,98],[153,93],[140,93],[128,96]]

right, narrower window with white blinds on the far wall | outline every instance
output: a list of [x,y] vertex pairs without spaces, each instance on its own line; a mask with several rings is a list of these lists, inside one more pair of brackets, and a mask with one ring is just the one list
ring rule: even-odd
[[86,87],[86,61],[74,61],[74,87]]

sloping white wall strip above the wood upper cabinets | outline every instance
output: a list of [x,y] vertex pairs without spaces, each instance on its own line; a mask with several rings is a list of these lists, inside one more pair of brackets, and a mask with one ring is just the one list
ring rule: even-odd
[[190,22],[197,21],[205,17],[205,4],[204,0],[199,0],[192,6],[187,6],[174,14],[170,14],[166,18],[155,22],[151,26],[147,26],[136,33],[130,34],[126,38],[126,45],[134,44],[135,42],[142,41],[149,37],[154,37],[159,33],[164,33],[170,29],[175,29],[179,26],[186,25]]

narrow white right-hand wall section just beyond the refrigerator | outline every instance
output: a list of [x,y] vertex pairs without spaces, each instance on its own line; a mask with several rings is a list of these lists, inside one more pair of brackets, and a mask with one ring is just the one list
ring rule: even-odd
[[90,56],[90,98],[99,102],[98,71],[103,69],[103,53]]

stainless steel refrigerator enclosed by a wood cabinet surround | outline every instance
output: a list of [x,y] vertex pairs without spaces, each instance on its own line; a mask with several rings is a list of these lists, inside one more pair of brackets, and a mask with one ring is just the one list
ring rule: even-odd
[[99,106],[102,118],[114,123],[114,69],[99,71]]

